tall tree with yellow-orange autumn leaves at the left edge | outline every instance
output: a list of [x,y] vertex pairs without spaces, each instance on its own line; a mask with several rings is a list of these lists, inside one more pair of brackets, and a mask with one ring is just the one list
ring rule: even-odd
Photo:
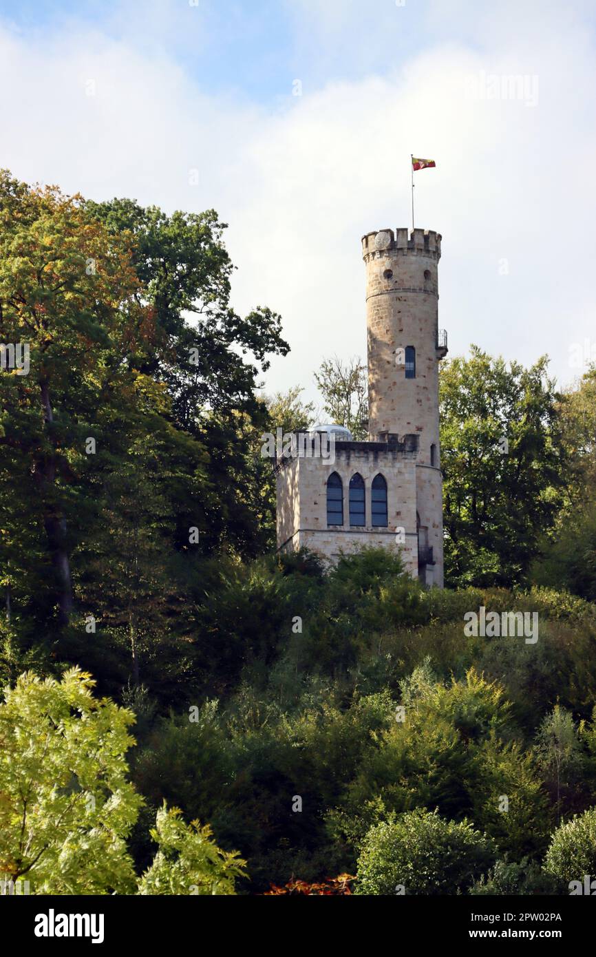
[[10,594],[8,569],[26,570],[18,543],[27,516],[45,536],[33,553],[49,556],[61,625],[73,611],[72,519],[84,526],[93,508],[83,478],[88,439],[109,419],[126,357],[152,323],[139,297],[125,236],[91,219],[80,197],[0,173],[0,339],[30,351],[27,374],[0,377],[0,508],[16,517],[3,536],[3,577]]

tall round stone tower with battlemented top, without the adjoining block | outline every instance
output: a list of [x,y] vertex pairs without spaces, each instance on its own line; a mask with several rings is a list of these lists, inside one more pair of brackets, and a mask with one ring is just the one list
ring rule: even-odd
[[[417,450],[418,568],[443,585],[438,364],[447,337],[438,329],[441,236],[407,229],[363,237],[368,332],[368,432],[398,434]],[[408,436],[405,438],[405,436]]]

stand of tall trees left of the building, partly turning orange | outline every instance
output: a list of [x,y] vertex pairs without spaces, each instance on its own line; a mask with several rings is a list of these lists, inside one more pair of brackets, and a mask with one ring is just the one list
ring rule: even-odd
[[0,174],[0,339],[31,351],[0,376],[3,605],[25,651],[49,633],[111,693],[130,677],[170,700],[202,562],[271,542],[257,376],[288,346],[270,310],[233,312],[224,229]]

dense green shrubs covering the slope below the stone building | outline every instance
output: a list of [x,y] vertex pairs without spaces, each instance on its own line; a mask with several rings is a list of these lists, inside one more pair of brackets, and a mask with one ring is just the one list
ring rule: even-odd
[[[203,584],[193,617],[202,624],[191,622],[189,634],[194,627],[205,634],[210,622],[217,650],[208,644],[193,652],[201,690],[189,691],[167,717],[146,686],[130,681],[122,691],[140,716],[142,744],[131,773],[147,805],[120,837],[128,887],[135,871],[151,868],[147,831],[164,801],[187,820],[209,820],[222,853],[238,848],[251,883],[234,879],[256,892],[292,874],[316,882],[354,873],[371,829],[414,809],[474,822],[508,865],[528,857],[533,867],[557,814],[589,802],[594,724],[584,720],[576,731],[563,703],[555,712],[571,731],[573,752],[572,768],[559,767],[558,797],[557,758],[569,735],[547,734],[552,715],[540,709],[550,701],[552,711],[559,691],[574,708],[594,701],[585,624],[591,606],[565,595],[559,602],[552,592],[425,592],[393,557],[374,550],[346,556],[332,573],[305,552],[250,566],[213,562]],[[465,609],[532,608],[539,598],[545,627],[536,646],[463,633]],[[297,615],[303,628],[295,633]],[[11,667],[27,654],[13,651]],[[569,662],[577,662],[573,671]],[[213,691],[220,701],[207,699]],[[296,795],[299,813],[292,810]],[[188,893],[186,864],[171,877],[164,873],[180,854],[159,858],[156,883],[143,893],[167,886]],[[523,893],[542,892],[539,877],[516,874]],[[475,893],[514,880],[501,877],[489,876]]]

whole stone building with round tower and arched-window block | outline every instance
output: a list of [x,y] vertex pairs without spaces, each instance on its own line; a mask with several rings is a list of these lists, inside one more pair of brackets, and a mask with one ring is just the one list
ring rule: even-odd
[[[363,545],[400,550],[412,575],[443,586],[438,364],[438,233],[363,237],[368,434],[339,426],[299,436],[276,462],[277,547],[329,561]],[[298,436],[295,436],[298,439]]]

